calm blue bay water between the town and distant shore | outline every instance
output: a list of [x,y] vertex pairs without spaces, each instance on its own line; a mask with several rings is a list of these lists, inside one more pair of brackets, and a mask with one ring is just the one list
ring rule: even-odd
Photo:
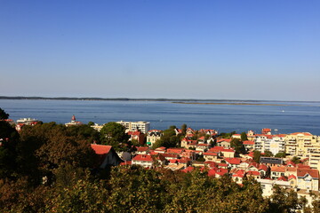
[[[264,102],[259,102],[259,104]],[[267,102],[290,106],[186,105],[165,101],[93,101],[0,99],[0,107],[17,120],[31,117],[43,122],[148,121],[152,129],[165,130],[186,123],[193,129],[237,132],[262,128],[277,133],[308,131],[320,135],[319,102]],[[276,133],[276,132],[274,132]]]

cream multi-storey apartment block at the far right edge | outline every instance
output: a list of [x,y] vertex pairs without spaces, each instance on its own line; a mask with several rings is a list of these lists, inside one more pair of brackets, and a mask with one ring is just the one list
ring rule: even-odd
[[285,153],[291,156],[309,157],[310,153],[320,150],[320,137],[308,132],[296,132],[284,138]]

